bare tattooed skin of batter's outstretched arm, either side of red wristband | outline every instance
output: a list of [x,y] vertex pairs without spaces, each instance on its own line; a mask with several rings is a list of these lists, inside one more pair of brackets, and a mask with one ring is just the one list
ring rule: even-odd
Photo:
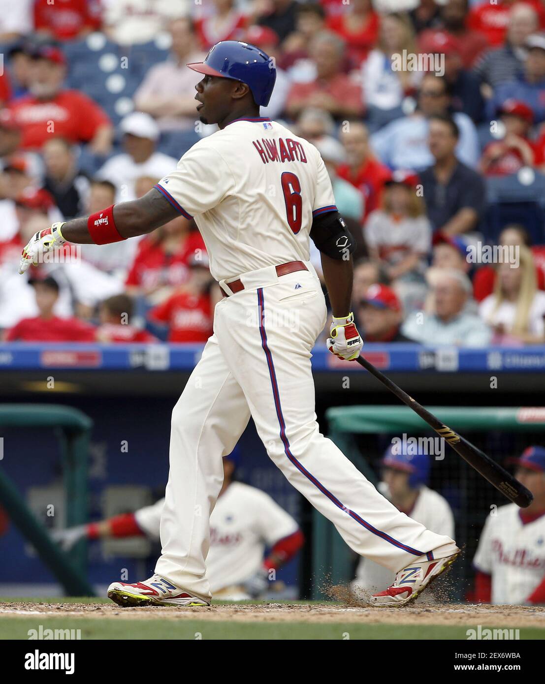
[[[121,202],[114,207],[114,220],[122,237],[135,237],[155,231],[155,228],[179,216],[179,212],[164,195],[155,188],[138,200]],[[62,228],[62,235],[68,242],[93,244],[87,228],[87,217],[68,221]]]

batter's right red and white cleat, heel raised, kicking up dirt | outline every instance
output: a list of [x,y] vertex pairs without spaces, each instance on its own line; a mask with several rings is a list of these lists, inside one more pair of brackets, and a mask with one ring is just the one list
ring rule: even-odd
[[455,562],[459,553],[458,549],[455,553],[444,558],[419,561],[399,570],[392,586],[380,594],[370,596],[370,605],[391,607],[407,605],[407,603],[414,601],[416,596],[421,594],[435,577],[439,577]]

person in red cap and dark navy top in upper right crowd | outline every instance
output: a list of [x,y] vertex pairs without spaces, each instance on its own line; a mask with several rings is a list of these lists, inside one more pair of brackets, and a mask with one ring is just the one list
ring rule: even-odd
[[484,100],[479,79],[464,67],[459,42],[446,33],[437,31],[429,41],[431,53],[444,55],[444,79],[451,94],[451,111],[461,111],[472,121],[483,118]]

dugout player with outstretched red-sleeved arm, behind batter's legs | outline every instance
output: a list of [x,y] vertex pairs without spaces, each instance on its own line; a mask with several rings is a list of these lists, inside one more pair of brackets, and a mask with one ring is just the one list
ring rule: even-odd
[[[206,559],[210,590],[214,598],[242,601],[268,589],[270,570],[289,562],[303,544],[296,521],[265,492],[233,482],[237,452],[223,459],[223,486],[210,516],[210,551]],[[68,551],[81,538],[124,538],[145,535],[159,540],[164,499],[134,513],[99,523],[53,531],[52,536]],[[265,547],[270,552],[264,559]]]

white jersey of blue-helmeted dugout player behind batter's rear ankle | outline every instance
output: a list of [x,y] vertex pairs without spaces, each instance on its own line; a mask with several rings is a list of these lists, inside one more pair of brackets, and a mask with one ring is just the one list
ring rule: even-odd
[[[426,486],[420,487],[410,517],[437,534],[454,536],[454,516],[444,497]],[[378,563],[363,558],[356,570],[355,586],[364,590],[383,590],[395,579],[395,573]]]

